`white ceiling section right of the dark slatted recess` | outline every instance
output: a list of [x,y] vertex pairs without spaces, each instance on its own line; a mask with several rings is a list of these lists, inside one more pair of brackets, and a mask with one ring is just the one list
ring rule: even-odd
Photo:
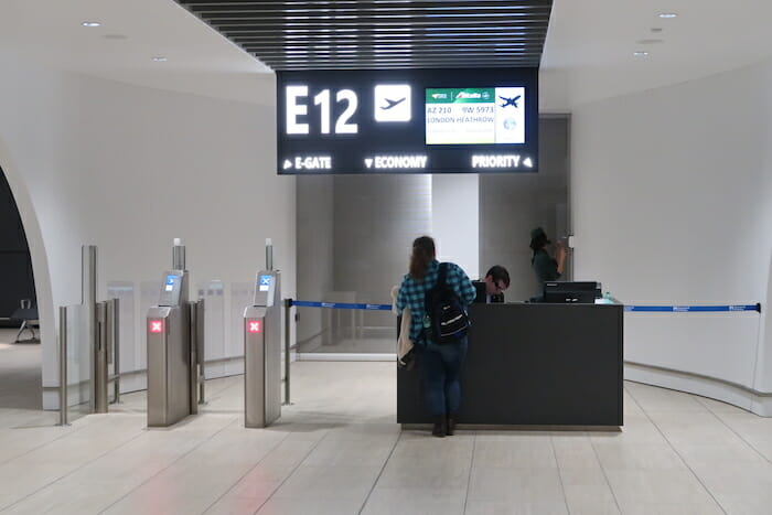
[[[678,17],[663,20],[661,12]],[[545,107],[571,107],[757,63],[772,55],[771,34],[770,0],[555,0],[542,58]],[[652,39],[663,42],[636,43]],[[636,51],[650,55],[635,57]]]

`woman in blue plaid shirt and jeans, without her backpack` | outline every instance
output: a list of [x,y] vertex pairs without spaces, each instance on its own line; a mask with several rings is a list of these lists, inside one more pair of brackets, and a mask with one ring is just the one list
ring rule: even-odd
[[[438,344],[431,341],[426,314],[426,293],[438,281],[440,264],[436,259],[435,240],[429,236],[416,238],[410,254],[410,271],[405,276],[397,297],[399,313],[410,308],[410,340],[416,345],[416,357],[425,380],[427,405],[435,426],[436,437],[453,434],[455,414],[461,403],[459,373],[467,356],[467,336],[453,343]],[[447,264],[447,283],[464,305],[472,303],[476,291],[467,273],[455,264]]]

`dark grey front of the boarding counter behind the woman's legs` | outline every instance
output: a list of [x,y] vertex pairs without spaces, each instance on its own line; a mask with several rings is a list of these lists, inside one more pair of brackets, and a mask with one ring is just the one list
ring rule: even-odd
[[[472,304],[459,423],[622,426],[621,304]],[[420,367],[397,422],[428,423]]]

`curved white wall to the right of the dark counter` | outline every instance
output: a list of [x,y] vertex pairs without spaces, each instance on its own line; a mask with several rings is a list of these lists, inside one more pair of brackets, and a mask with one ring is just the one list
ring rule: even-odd
[[[575,109],[576,277],[628,304],[765,309],[771,118],[772,61]],[[770,393],[766,320],[628,313],[625,360]]]

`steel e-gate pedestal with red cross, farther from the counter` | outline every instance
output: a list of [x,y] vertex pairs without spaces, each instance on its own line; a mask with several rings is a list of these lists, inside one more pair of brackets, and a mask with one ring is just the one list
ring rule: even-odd
[[148,427],[171,426],[204,401],[204,301],[189,301],[185,247],[174,240],[172,270],[148,311]]

